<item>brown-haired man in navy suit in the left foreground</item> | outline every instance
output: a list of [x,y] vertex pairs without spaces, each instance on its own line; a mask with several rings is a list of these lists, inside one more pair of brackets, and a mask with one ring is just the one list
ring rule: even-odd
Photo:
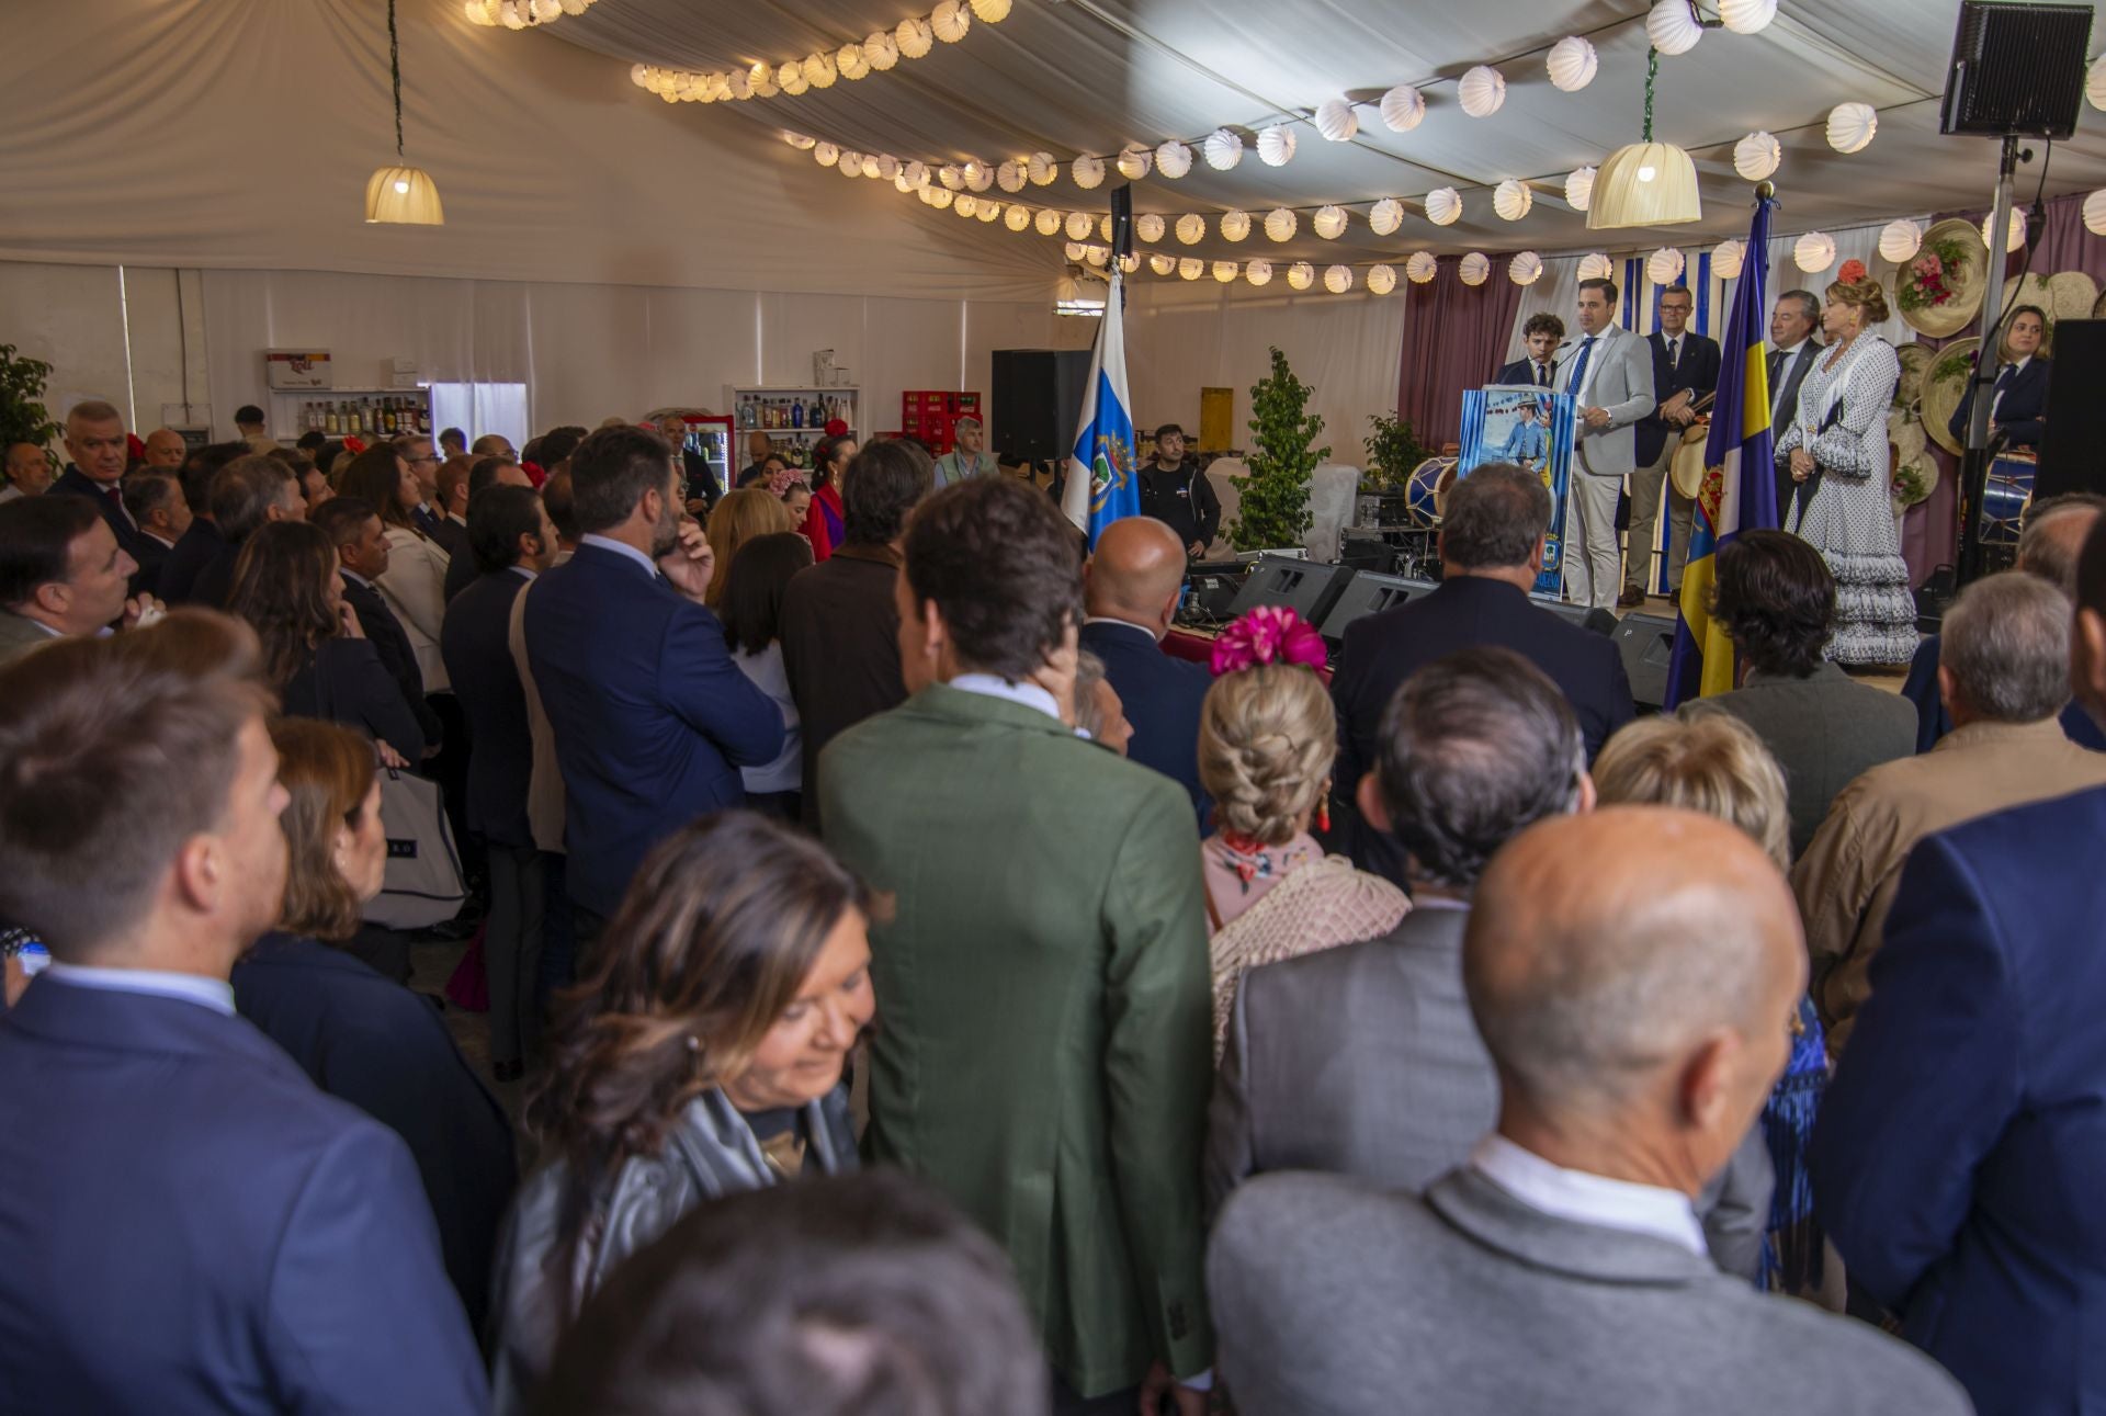
[[55,959],[0,1016],[0,1405],[482,1412],[409,1148],[234,1016],[286,877],[272,704],[246,630],[168,634],[0,674],[0,917]]

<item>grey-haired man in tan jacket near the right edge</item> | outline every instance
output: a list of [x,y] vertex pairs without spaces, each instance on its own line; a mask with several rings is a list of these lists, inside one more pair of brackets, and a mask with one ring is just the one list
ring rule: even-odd
[[2070,598],[2060,586],[2024,571],[1967,586],[1946,613],[1938,691],[1952,731],[1843,788],[1792,866],[1830,1056],[1872,992],[1872,957],[1916,841],[2106,784],[2106,754],[2079,748],[2055,721],[2070,702]]

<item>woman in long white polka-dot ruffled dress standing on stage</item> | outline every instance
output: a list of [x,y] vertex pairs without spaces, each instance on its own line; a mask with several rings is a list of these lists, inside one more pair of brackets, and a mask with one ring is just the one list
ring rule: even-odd
[[1828,348],[1777,432],[1777,468],[1794,483],[1786,529],[1822,552],[1836,577],[1828,657],[1847,668],[1908,664],[1916,653],[1916,603],[1887,487],[1887,409],[1902,360],[1891,343],[1866,333],[1885,318],[1879,280],[1828,287]]

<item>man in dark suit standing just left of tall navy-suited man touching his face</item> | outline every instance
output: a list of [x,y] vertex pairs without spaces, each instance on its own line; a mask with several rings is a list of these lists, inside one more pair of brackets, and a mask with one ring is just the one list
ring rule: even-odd
[[491,862],[491,1066],[497,1081],[516,1081],[539,1035],[543,872],[526,820],[533,729],[512,660],[512,601],[554,565],[556,527],[533,487],[484,487],[468,504],[468,544],[482,575],[446,605],[438,651],[468,714],[468,828]]

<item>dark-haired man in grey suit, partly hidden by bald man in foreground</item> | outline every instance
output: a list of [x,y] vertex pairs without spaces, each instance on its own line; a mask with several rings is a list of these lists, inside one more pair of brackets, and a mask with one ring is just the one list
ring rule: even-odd
[[[1497,1121],[1499,1077],[1462,990],[1464,927],[1493,851],[1594,807],[1580,723],[1512,649],[1464,649],[1396,691],[1356,796],[1407,853],[1411,912],[1379,940],[1243,976],[1209,1108],[1209,1212],[1272,1169],[1424,1191]],[[1754,1277],[1771,1188],[1752,1127],[1697,1197],[1727,1273]]]

